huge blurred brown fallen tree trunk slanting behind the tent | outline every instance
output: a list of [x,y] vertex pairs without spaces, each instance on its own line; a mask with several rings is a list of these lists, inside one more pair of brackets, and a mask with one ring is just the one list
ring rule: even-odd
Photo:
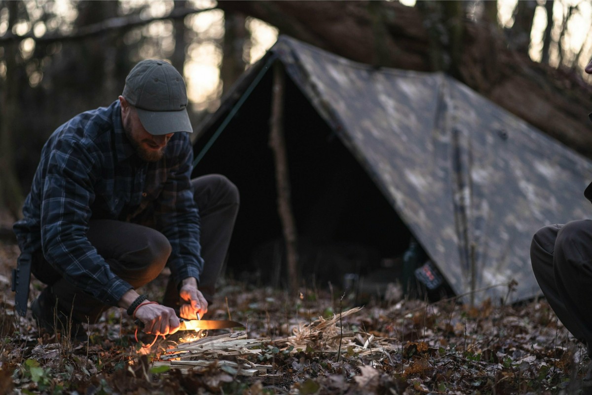
[[[398,69],[431,71],[435,45],[418,7],[382,3],[382,28],[373,26],[367,2],[358,1],[219,1],[224,11],[243,12],[277,27],[281,34],[362,63],[381,59]],[[440,21],[439,23],[442,23]],[[462,21],[463,50],[455,77],[538,129],[592,158],[592,133],[587,120],[592,88],[581,78],[535,63],[507,47],[497,28]],[[445,25],[445,23],[443,23]],[[381,37],[377,54],[374,34]],[[442,38],[448,37],[441,34]],[[446,43],[439,43],[444,49]],[[446,55],[455,56],[455,49]]]

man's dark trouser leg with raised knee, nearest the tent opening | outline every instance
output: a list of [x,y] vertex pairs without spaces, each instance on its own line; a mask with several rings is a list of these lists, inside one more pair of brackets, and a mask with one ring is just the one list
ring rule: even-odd
[[[210,174],[192,179],[194,198],[200,211],[200,244],[204,259],[199,289],[211,303],[215,284],[226,260],[234,221],[239,211],[239,191],[225,176]],[[175,306],[179,301],[177,284],[169,282],[164,304]]]

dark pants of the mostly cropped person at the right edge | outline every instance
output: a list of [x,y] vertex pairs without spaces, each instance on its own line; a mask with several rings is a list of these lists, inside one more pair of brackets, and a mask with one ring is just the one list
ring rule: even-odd
[[539,229],[530,260],[555,314],[592,355],[592,220]]

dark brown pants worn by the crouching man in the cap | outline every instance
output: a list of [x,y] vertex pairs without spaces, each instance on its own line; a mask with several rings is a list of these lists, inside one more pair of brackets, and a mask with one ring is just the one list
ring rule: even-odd
[[[226,259],[234,221],[239,210],[239,192],[226,177],[206,175],[192,180],[194,198],[200,210],[200,243],[204,269],[200,291],[211,303],[215,283]],[[91,220],[87,233],[112,271],[134,289],[154,280],[166,265],[170,244],[162,233],[150,227],[115,220]],[[95,323],[110,306],[73,287],[50,266],[43,254],[33,256],[33,274],[49,284],[41,293],[53,305],[57,298],[60,311],[78,322]],[[171,306],[179,299],[177,284],[172,281],[165,291],[163,303]]]

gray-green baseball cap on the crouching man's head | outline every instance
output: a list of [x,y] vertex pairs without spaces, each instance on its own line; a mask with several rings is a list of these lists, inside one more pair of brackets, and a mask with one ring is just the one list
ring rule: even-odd
[[187,114],[185,82],[170,63],[142,60],[127,75],[122,95],[136,107],[148,133],[193,132]]

